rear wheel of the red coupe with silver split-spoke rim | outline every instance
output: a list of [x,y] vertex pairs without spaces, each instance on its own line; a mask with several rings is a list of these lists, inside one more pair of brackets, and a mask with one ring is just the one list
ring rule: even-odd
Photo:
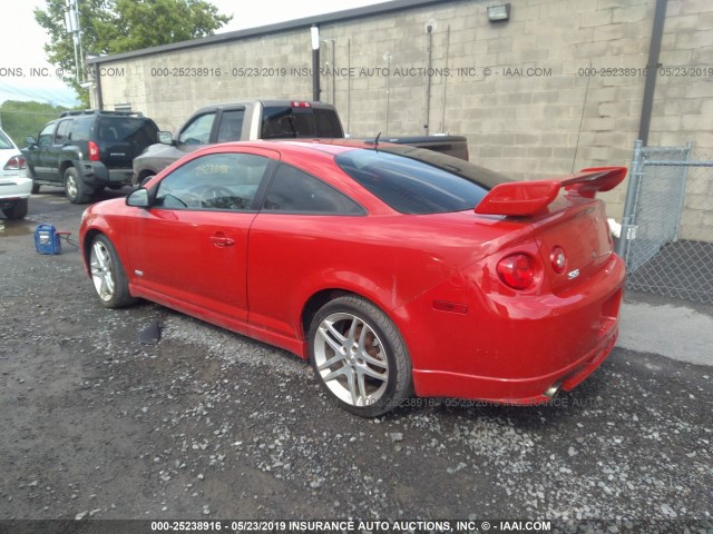
[[372,303],[355,296],[325,304],[312,319],[310,363],[338,405],[377,417],[411,395],[411,359],[395,325]]

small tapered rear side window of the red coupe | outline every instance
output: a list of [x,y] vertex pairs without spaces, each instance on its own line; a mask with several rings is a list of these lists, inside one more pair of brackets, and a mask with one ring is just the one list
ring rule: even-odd
[[362,207],[345,195],[284,164],[275,171],[263,209],[291,214],[364,215]]

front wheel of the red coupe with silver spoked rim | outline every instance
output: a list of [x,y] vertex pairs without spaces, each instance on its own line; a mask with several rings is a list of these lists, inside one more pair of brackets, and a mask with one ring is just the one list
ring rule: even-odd
[[126,271],[116,248],[102,234],[91,241],[89,270],[97,296],[107,308],[120,308],[138,300],[129,293]]

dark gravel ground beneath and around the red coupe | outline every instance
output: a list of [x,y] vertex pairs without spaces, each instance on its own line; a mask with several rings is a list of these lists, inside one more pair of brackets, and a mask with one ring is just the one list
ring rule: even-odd
[[[355,418],[289,353],[148,303],[101,307],[76,249],[35,253],[37,224],[76,238],[82,211],[47,191],[27,220],[0,219],[0,520],[676,520],[661,524],[711,532],[713,368],[617,347],[548,406],[420,399]],[[162,339],[141,345],[154,320]]]

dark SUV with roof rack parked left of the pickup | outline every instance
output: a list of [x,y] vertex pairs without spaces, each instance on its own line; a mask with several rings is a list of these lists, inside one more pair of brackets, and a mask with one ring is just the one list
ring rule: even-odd
[[158,142],[158,127],[141,113],[127,111],[66,111],[27,138],[22,149],[32,192],[40,185],[65,186],[72,204],[88,202],[91,195],[131,182],[131,160]]

